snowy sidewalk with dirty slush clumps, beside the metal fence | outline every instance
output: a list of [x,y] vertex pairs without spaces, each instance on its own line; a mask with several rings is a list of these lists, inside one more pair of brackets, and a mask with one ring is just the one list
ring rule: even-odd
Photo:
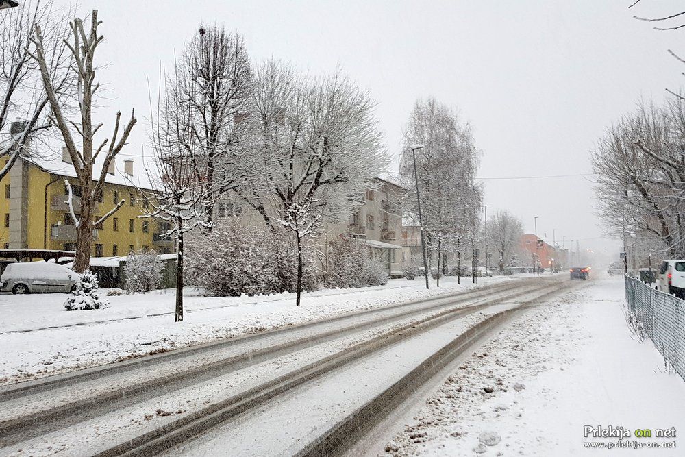
[[[685,455],[685,381],[664,373],[651,341],[640,343],[630,334],[623,297],[621,278],[601,279],[527,312],[460,365],[386,451]],[[629,430],[621,440],[627,447],[587,449],[619,439],[584,437],[586,425]],[[675,439],[654,437],[656,429],[671,428]],[[636,429],[650,429],[653,437],[636,438]],[[675,448],[646,447],[674,441]],[[635,449],[636,443],[643,447]]]

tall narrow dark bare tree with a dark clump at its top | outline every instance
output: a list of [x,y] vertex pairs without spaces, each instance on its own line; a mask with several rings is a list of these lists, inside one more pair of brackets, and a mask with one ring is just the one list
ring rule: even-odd
[[[177,62],[177,109],[187,114],[179,141],[193,149],[197,175],[206,186],[204,217],[211,229],[213,203],[243,176],[241,153],[248,126],[252,71],[245,43],[223,27],[202,25]],[[188,128],[186,128],[188,127]],[[183,136],[181,136],[183,134]]]

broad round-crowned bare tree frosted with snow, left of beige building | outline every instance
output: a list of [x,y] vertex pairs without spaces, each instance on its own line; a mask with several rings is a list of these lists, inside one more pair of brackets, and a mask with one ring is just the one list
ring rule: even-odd
[[347,218],[385,169],[374,108],[369,94],[340,72],[308,79],[275,60],[256,71],[251,141],[259,168],[237,192],[267,225],[295,234],[298,306],[303,238],[324,216]]

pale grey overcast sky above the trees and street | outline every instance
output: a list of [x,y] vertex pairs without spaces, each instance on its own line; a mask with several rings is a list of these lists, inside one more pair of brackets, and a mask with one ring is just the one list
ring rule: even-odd
[[[63,1],[63,0],[58,0]],[[66,5],[68,2],[64,1]],[[473,126],[483,178],[590,173],[590,149],[604,129],[642,98],[662,101],[685,82],[685,32],[657,32],[634,14],[658,16],[681,2],[580,1],[229,1],[84,0],[99,9],[101,80],[108,109],[136,125],[125,153],[136,162],[149,117],[147,79],[158,81],[200,23],[245,37],[256,62],[274,56],[303,71],[336,66],[367,88],[393,156],[417,97],[434,96]],[[103,119],[111,128],[112,116]],[[140,169],[140,167],[138,167]],[[507,209],[525,230],[556,239],[599,240],[591,177],[484,180],[488,212]],[[616,250],[616,249],[614,249]]]

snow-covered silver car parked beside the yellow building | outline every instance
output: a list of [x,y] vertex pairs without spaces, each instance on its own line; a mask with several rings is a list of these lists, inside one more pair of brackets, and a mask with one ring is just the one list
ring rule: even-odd
[[5,267],[0,290],[14,294],[69,293],[78,280],[78,273],[56,263],[17,262]]

